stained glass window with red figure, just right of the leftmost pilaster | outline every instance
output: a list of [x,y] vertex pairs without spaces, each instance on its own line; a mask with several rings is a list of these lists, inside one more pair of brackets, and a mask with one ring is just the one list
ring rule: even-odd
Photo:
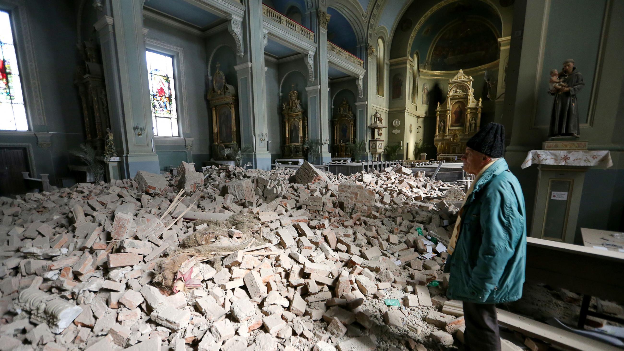
[[150,84],[154,135],[178,137],[178,113],[175,108],[173,57],[147,51],[147,74]]

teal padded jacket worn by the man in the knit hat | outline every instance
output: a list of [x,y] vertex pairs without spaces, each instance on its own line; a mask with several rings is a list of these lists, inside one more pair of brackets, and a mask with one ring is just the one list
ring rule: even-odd
[[450,299],[480,304],[522,297],[527,252],[524,196],[501,158],[481,175],[462,211],[456,248],[446,261]]

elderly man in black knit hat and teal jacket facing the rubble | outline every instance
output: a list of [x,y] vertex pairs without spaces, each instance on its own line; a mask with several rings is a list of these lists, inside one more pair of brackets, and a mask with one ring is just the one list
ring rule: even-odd
[[447,296],[464,302],[466,350],[500,350],[495,304],[522,296],[526,254],[524,196],[502,158],[505,128],[487,123],[466,143],[464,170],[475,176],[459,210],[446,272]]

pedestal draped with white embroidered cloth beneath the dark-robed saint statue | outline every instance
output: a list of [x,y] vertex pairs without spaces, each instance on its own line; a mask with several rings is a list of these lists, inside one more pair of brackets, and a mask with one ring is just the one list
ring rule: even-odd
[[539,176],[529,236],[573,244],[585,171],[609,168],[611,155],[606,150],[531,150],[522,168],[534,163]]

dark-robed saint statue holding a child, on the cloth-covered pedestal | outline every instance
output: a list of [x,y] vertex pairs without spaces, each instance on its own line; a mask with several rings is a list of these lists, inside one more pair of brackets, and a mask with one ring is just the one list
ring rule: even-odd
[[[580,133],[577,94],[585,86],[583,75],[574,67],[574,60],[563,61],[563,72],[557,75],[561,82],[553,83],[550,95],[555,95],[550,114],[550,137],[575,137]],[[563,85],[565,84],[565,86]]]

